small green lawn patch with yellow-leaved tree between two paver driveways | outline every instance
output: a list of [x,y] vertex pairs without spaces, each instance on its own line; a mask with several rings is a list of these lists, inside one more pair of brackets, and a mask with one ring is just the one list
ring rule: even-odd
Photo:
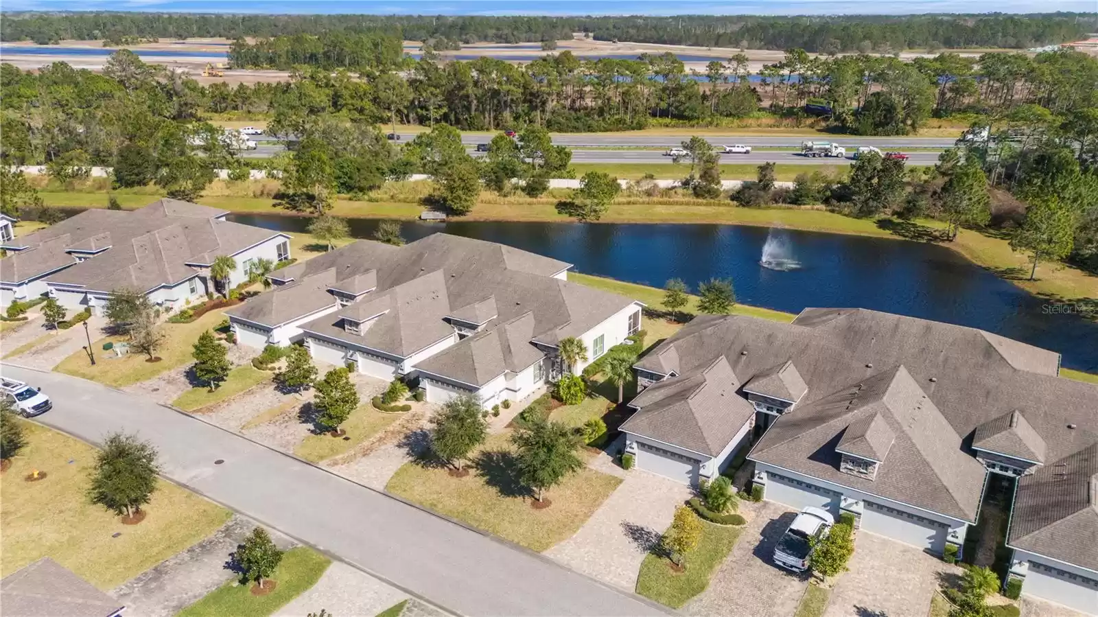
[[[638,594],[672,608],[680,608],[709,586],[709,576],[728,557],[741,529],[704,520],[702,526],[702,540],[686,556],[685,571],[673,571],[671,561],[665,557],[653,553],[645,557],[637,576]],[[735,592],[730,590],[729,593]]]

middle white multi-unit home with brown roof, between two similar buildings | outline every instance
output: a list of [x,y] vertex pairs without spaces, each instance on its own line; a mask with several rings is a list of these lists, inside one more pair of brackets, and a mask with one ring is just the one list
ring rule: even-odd
[[270,291],[226,312],[240,345],[301,341],[317,360],[390,380],[428,401],[474,393],[494,405],[561,374],[561,339],[583,368],[640,329],[641,304],[568,281],[571,265],[434,234],[395,247],[359,240],[272,272]]

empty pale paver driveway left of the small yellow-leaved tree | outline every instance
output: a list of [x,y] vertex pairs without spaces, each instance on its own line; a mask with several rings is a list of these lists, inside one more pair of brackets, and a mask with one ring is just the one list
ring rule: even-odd
[[632,591],[640,562],[671,525],[675,506],[691,496],[685,484],[634,470],[571,538],[546,554],[593,576]]

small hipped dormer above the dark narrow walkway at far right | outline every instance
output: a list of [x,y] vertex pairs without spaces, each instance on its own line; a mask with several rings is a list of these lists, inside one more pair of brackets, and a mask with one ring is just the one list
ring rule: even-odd
[[1044,464],[1044,439],[1018,410],[977,426],[972,449],[984,467],[1005,475],[1024,475]]

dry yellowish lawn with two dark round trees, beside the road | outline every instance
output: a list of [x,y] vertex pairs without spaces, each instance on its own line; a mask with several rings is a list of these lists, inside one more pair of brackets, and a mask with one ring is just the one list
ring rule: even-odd
[[552,505],[534,509],[533,497],[516,479],[509,438],[509,433],[489,437],[466,478],[410,462],[389,480],[385,491],[540,552],[572,537],[621,483],[584,468],[547,492]]

